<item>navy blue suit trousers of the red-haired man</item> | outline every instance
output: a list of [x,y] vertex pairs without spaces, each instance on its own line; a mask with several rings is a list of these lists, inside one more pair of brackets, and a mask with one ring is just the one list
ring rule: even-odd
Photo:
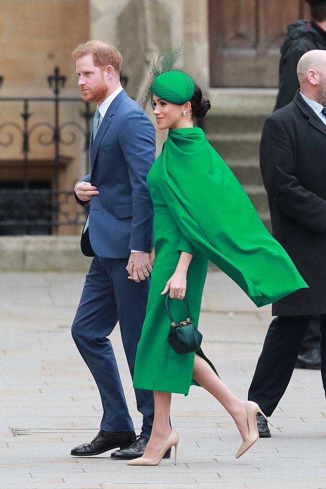
[[[127,279],[127,263],[127,258],[93,258],[72,324],[72,337],[100,392],[101,429],[110,432],[134,428],[108,336],[119,321],[133,378],[150,287],[150,279],[138,283]],[[135,389],[135,397],[137,409],[143,415],[141,435],[150,437],[154,415],[152,391]]]

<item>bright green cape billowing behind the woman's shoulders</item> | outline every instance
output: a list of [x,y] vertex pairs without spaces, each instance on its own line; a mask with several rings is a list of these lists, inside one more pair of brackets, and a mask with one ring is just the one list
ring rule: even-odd
[[307,285],[200,128],[169,130],[163,196],[180,231],[258,306]]

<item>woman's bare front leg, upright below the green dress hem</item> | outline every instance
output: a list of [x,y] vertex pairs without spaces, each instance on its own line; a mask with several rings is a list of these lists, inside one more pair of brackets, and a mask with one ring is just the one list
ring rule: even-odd
[[171,392],[154,391],[154,421],[151,438],[143,455],[144,458],[156,457],[171,433],[171,397]]

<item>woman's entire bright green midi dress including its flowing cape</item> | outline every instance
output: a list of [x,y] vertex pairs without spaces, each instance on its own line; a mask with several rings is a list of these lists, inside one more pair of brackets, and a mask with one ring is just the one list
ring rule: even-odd
[[[208,259],[257,306],[307,286],[200,128],[169,130],[147,181],[154,206],[156,258],[133,385],[188,394],[195,383],[195,354],[177,354],[170,346],[171,324],[161,295],[181,251],[194,255],[187,273],[186,298],[196,327]],[[185,320],[183,301],[170,303],[174,321]],[[201,350],[197,353],[214,368]]]

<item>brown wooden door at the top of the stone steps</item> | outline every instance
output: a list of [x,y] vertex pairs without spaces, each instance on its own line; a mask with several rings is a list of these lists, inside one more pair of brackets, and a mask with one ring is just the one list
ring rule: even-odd
[[287,24],[309,19],[304,0],[209,0],[211,87],[277,87]]

